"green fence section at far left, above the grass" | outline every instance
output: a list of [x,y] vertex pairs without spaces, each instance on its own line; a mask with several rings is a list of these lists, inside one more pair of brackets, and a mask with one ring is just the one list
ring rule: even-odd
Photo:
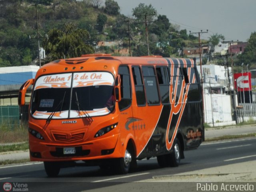
[[19,125],[20,109],[19,106],[0,106],[0,124]]

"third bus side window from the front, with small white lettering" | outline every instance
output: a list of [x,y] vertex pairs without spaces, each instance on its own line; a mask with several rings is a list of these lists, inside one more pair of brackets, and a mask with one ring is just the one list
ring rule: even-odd
[[144,78],[144,84],[145,84],[148,105],[160,104],[154,67],[143,66],[142,73],[143,73],[143,78]]

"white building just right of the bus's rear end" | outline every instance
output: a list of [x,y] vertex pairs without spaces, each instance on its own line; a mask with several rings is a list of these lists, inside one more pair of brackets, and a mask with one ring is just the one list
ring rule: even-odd
[[[197,66],[197,69],[200,74],[200,66]],[[230,81],[228,81],[228,72]],[[213,126],[213,124],[214,126],[236,124],[236,121],[232,120],[231,97],[226,94],[229,83],[230,90],[233,90],[231,67],[227,69],[225,66],[203,65],[202,73],[204,81],[204,122],[210,126]]]

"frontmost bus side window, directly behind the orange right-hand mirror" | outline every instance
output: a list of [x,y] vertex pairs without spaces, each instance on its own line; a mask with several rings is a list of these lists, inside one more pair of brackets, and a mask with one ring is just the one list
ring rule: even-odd
[[130,72],[128,66],[120,66],[118,74],[121,78],[121,101],[118,103],[119,110],[125,110],[132,103]]

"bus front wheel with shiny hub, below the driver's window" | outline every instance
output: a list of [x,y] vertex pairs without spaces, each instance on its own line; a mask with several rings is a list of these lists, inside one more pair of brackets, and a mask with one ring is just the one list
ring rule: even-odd
[[116,159],[116,171],[118,174],[127,174],[132,164],[133,153],[127,148],[124,157]]

